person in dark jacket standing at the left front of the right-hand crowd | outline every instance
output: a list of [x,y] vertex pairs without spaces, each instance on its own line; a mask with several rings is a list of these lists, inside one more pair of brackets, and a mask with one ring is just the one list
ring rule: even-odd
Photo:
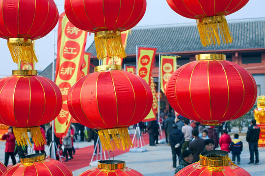
[[173,168],[177,166],[177,155],[179,163],[182,161],[181,148],[184,143],[184,134],[178,129],[177,124],[172,125],[172,130],[169,132],[169,142],[172,152]]

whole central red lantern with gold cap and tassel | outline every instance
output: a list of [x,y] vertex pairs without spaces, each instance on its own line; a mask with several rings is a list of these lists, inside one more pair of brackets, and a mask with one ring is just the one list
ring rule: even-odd
[[121,71],[121,66],[97,66],[95,71],[70,89],[69,112],[80,124],[100,130],[104,148],[113,150],[116,143],[125,150],[132,145],[127,127],[148,115],[152,91],[139,76]]

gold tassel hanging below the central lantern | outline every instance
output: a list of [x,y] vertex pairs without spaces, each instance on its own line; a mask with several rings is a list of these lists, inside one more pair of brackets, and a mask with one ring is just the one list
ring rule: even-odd
[[113,151],[115,147],[125,150],[132,146],[129,132],[126,128],[102,129],[99,130],[99,137],[103,150]]

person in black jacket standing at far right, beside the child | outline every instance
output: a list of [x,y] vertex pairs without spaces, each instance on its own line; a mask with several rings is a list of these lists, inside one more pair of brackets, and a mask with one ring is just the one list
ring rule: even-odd
[[256,125],[256,120],[251,120],[251,126],[248,127],[246,141],[249,146],[250,161],[247,164],[254,164],[254,152],[256,156],[255,164],[259,164],[259,151],[258,151],[258,141],[260,137],[260,127]]

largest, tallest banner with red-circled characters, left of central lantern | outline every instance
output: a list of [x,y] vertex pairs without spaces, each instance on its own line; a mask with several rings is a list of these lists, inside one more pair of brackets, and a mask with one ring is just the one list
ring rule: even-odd
[[54,132],[57,137],[67,132],[71,122],[72,116],[67,108],[67,95],[80,77],[79,72],[83,63],[86,37],[87,32],[78,29],[69,22],[65,13],[60,15],[55,83],[61,90],[63,105],[59,115],[54,120]]

